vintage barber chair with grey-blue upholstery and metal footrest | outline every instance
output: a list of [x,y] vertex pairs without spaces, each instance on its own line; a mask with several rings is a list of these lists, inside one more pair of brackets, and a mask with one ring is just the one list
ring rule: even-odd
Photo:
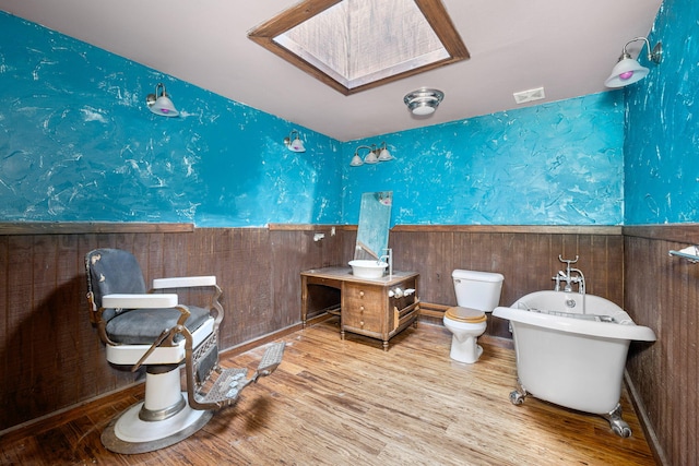
[[[187,439],[214,410],[233,405],[245,387],[270,375],[282,361],[285,344],[275,343],[250,378],[247,369],[218,366],[224,310],[215,276],[154,279],[146,292],[130,252],[96,249],[85,255],[85,267],[90,319],[105,344],[107,361],[132,372],[145,368],[144,401],[121,413],[102,434],[102,443],[112,452],[152,452]],[[164,292],[186,288],[208,292],[208,306],[185,306],[177,294]]]

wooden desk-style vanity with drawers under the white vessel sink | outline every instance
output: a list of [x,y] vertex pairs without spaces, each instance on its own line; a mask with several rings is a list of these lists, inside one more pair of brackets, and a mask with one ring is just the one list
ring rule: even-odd
[[[350,267],[324,267],[301,272],[301,322],[309,314],[340,315],[340,336],[352,332],[383,342],[411,323],[417,325],[419,274],[393,272],[381,278],[357,278]],[[405,294],[405,290],[414,290]]]

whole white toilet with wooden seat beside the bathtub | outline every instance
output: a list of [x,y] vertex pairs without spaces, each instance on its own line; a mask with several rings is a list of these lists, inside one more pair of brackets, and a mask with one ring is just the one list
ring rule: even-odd
[[451,274],[457,292],[457,307],[445,313],[445,326],[453,334],[451,359],[473,363],[483,348],[476,343],[485,332],[486,312],[493,312],[500,301],[505,277],[490,272],[455,270]]

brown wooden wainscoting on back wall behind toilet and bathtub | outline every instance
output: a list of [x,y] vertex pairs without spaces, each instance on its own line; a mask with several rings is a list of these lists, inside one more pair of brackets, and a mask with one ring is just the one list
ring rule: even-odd
[[[603,228],[615,232],[618,228]],[[571,231],[571,232],[566,232]],[[553,276],[565,264],[558,261],[579,255],[577,267],[585,274],[588,291],[623,303],[623,250],[619,235],[597,235],[577,229],[557,228],[549,231],[532,227],[526,232],[518,227],[508,232],[505,227],[461,228],[446,226],[430,229],[395,228],[391,231],[396,270],[420,274],[420,298],[426,302],[454,306],[455,295],[451,273],[454,268],[498,272],[505,276],[500,304],[509,306],[528,292],[553,289]],[[493,318],[486,334],[509,337],[506,321]]]

